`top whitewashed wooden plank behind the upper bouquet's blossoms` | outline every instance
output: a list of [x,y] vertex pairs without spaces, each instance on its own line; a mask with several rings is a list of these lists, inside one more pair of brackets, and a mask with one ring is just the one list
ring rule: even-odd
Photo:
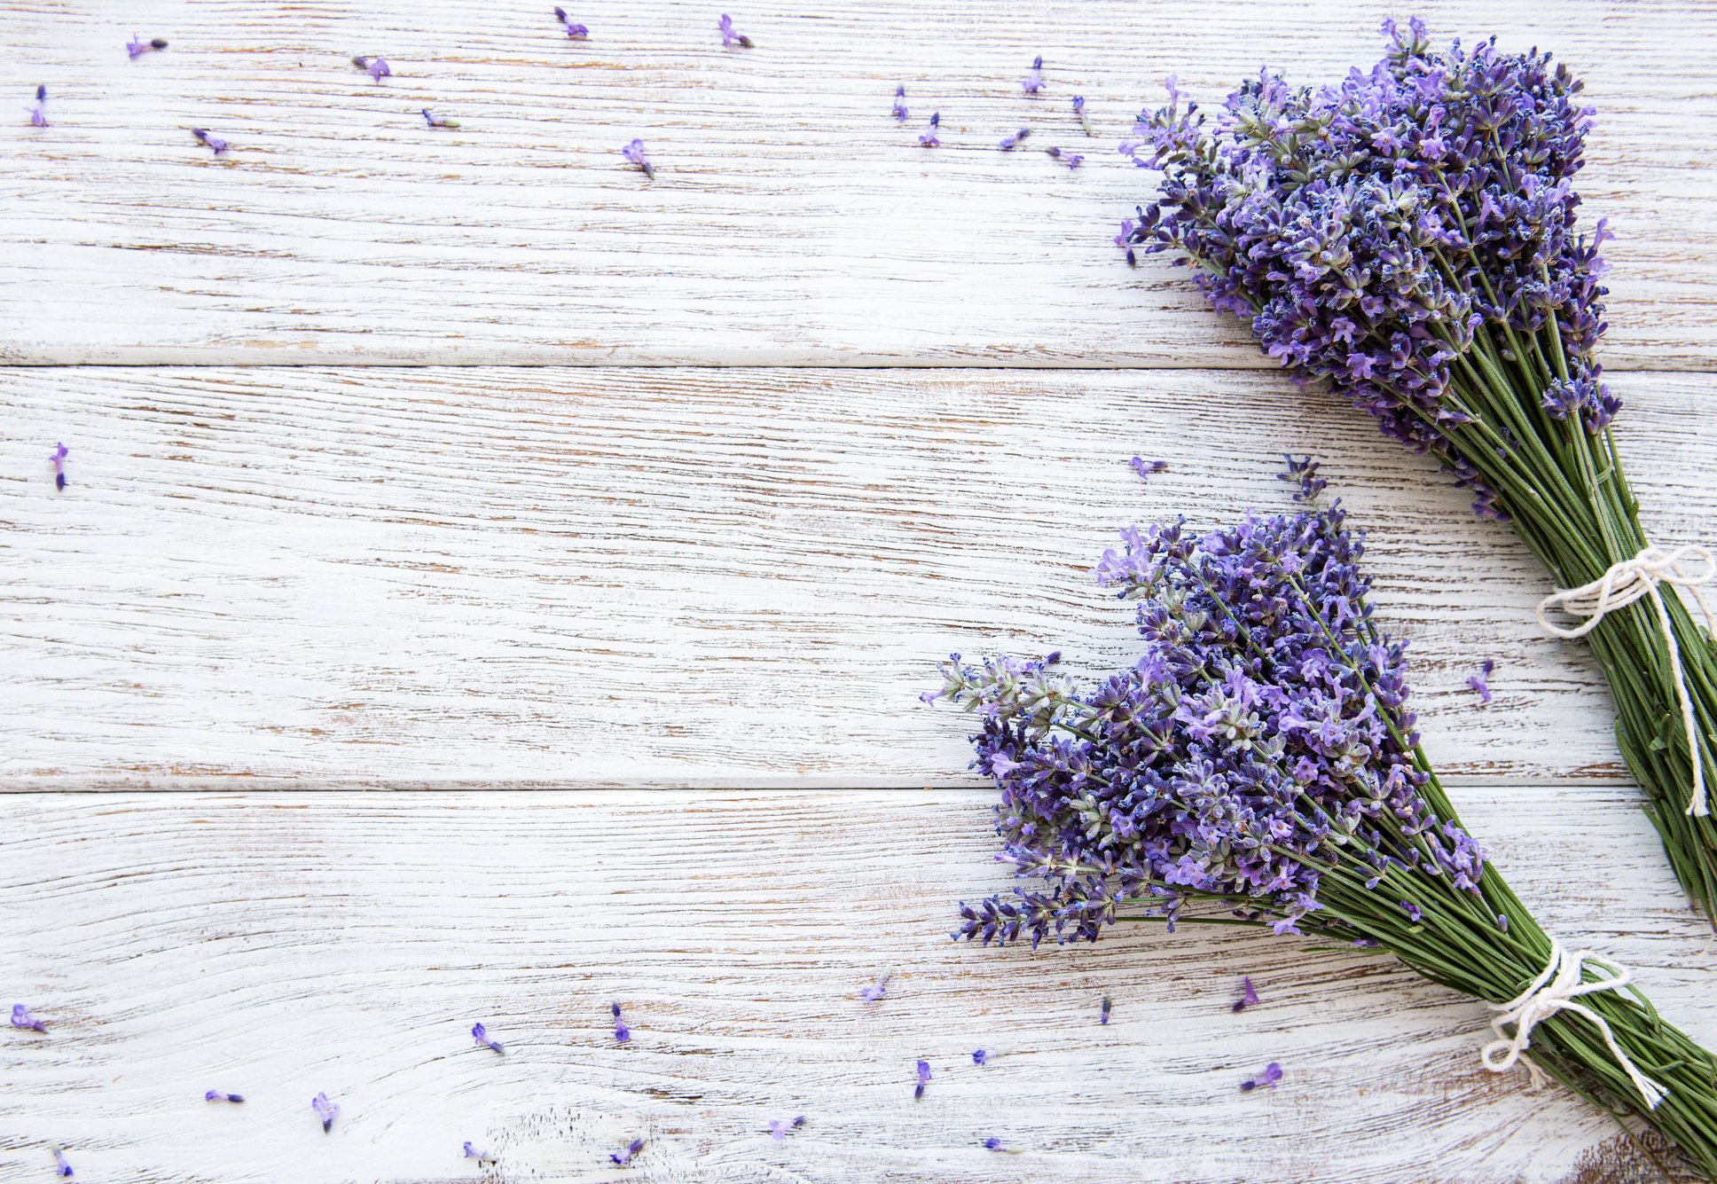
[[[549,7],[5,5],[0,94],[46,84],[53,127],[0,129],[0,360],[1262,365],[1183,273],[1118,261],[1150,175],[1114,144],[1169,74],[1216,100],[1260,63],[1320,81],[1380,45],[1353,0],[761,2],[735,14],[752,51],[721,50],[707,3],[580,9],[587,43]],[[1418,9],[1588,79],[1581,190],[1621,233],[1605,359],[1710,369],[1717,9]],[[134,31],[172,46],[127,62]],[[924,151],[932,110],[946,146]],[[1085,168],[999,151],[1020,125]],[[634,136],[652,184],[620,158]]]

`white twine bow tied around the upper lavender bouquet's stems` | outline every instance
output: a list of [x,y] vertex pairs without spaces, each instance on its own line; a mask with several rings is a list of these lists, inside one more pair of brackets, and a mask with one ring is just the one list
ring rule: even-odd
[[[1705,568],[1683,568],[1683,563],[1690,559],[1703,563]],[[1581,583],[1578,589],[1557,589],[1538,601],[1538,625],[1557,637],[1573,638],[1585,637],[1597,628],[1597,623],[1611,609],[1624,609],[1635,601],[1652,597],[1652,607],[1657,609],[1657,623],[1664,628],[1664,643],[1669,645],[1669,673],[1676,681],[1676,698],[1681,700],[1681,728],[1688,734],[1688,760],[1693,764],[1693,796],[1688,801],[1686,812],[1702,819],[1708,810],[1705,805],[1705,762],[1700,758],[1700,729],[1693,722],[1693,698],[1688,695],[1688,678],[1681,671],[1681,647],[1676,645],[1676,630],[1669,623],[1669,609],[1664,606],[1664,594],[1659,585],[1672,583],[1686,589],[1705,616],[1707,633],[1717,633],[1710,606],[1700,595],[1700,585],[1712,580],[1717,580],[1717,558],[1707,547],[1659,551],[1647,546],[1635,558],[1614,563],[1609,571],[1592,583]],[[1587,619],[1571,626],[1556,625],[1549,616],[1550,609],[1561,609],[1569,616],[1583,616]]]

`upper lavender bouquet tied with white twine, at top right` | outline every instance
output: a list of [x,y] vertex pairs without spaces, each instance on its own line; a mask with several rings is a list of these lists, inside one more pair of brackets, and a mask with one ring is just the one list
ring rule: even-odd
[[1574,216],[1592,110],[1547,53],[1435,53],[1417,19],[1384,33],[1370,72],[1319,89],[1264,72],[1214,120],[1171,81],[1121,146],[1162,172],[1121,242],[1174,252],[1298,379],[1329,381],[1513,523],[1562,589],[1540,623],[1592,643],[1676,875],[1717,920],[1717,649],[1660,587],[1717,565],[1652,546],[1611,434],[1609,232],[1581,237]]

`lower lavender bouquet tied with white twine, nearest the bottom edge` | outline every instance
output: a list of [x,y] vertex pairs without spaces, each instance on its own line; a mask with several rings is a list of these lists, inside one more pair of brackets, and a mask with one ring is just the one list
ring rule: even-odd
[[1315,933],[1382,945],[1499,1011],[1513,1000],[1511,1018],[1561,956],[1590,1011],[1537,1009],[1513,1042],[1499,1028],[1487,1064],[1513,1066],[1530,1038],[1530,1064],[1717,1179],[1717,1060],[1617,990],[1619,968],[1562,954],[1461,825],[1341,508],[1123,539],[1097,575],[1138,602],[1132,668],[1080,690],[1054,659],[955,655],[925,695],[982,721],[998,860],[1042,880],[962,904],[955,937],[1095,940],[1128,920]]

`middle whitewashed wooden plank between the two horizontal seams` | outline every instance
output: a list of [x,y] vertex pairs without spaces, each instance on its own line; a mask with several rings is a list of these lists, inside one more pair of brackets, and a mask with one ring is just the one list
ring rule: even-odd
[[[1650,529],[1708,537],[1712,379],[1617,386]],[[0,419],[10,788],[962,782],[936,662],[1128,662],[1116,530],[1288,506],[1289,448],[1372,530],[1446,772],[1619,776],[1537,563],[1274,374],[26,369]]]

